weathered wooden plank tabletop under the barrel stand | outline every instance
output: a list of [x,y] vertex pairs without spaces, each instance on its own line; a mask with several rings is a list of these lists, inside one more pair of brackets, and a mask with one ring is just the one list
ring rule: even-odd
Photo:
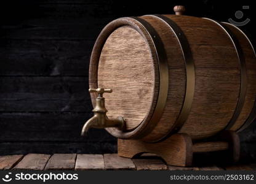
[[256,170],[255,164],[218,166],[209,163],[194,167],[167,166],[153,155],[121,158],[116,154],[33,154],[0,156],[0,170]]

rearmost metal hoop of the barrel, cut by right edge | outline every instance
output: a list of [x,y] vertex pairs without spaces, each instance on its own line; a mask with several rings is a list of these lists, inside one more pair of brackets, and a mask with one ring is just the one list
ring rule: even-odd
[[[247,37],[247,35],[241,30],[239,29],[237,26],[234,26],[230,23],[226,23],[226,22],[223,22],[224,24],[226,25],[230,25],[230,26],[233,26],[234,28],[236,28],[240,33],[242,33],[242,35],[244,37],[246,37],[250,47],[252,48],[252,52],[254,52],[254,56],[255,56],[255,59],[256,59],[256,53],[255,53],[255,50],[254,50],[254,46],[252,45],[252,42],[250,42],[250,39]],[[256,118],[256,99],[254,101],[254,107],[252,107],[252,111],[250,112],[250,115],[249,117],[247,118],[247,120],[244,122],[244,124],[237,130],[238,132],[241,132],[243,131],[244,129],[246,129]]]

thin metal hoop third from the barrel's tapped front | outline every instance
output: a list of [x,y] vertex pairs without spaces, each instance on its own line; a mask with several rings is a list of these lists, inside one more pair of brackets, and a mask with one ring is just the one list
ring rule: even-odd
[[240,64],[241,84],[240,84],[240,93],[239,93],[239,97],[238,97],[238,103],[236,104],[236,109],[234,110],[234,113],[233,113],[233,116],[232,116],[230,122],[228,123],[228,125],[226,125],[226,128],[225,128],[225,129],[230,129],[236,123],[236,120],[238,120],[238,117],[242,111],[242,107],[244,106],[244,102],[246,99],[246,91],[247,91],[246,61],[244,58],[244,53],[242,52],[242,48],[238,42],[238,39],[236,38],[236,36],[234,36],[232,31],[227,26],[225,26],[223,23],[212,20],[210,18],[205,18],[205,19],[213,21],[214,23],[216,23],[218,26],[220,26],[220,28],[222,28],[225,31],[225,33],[228,35],[228,37],[230,37],[230,39],[234,45],[234,48],[236,50],[236,53],[238,55],[238,60],[239,60],[239,64]]

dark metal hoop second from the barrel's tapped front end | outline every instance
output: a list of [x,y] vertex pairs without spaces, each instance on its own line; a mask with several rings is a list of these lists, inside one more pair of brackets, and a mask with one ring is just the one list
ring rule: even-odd
[[185,34],[183,33],[182,29],[170,18],[167,18],[164,15],[150,15],[152,17],[156,17],[161,21],[164,21],[169,28],[173,31],[175,36],[178,39],[180,47],[182,48],[182,54],[185,62],[186,68],[186,86],[185,86],[185,97],[183,99],[182,109],[178,115],[177,120],[174,123],[172,129],[167,132],[166,136],[162,137],[156,142],[160,142],[162,140],[167,139],[168,137],[172,136],[172,134],[178,132],[180,128],[186,122],[188,115],[190,115],[190,110],[192,107],[192,102],[194,98],[194,88],[195,88],[195,71],[194,71],[194,59],[191,53],[190,44],[188,43],[188,39],[186,39]]

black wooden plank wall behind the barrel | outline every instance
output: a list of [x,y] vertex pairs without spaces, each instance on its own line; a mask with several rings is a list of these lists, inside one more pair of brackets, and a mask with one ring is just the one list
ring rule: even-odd
[[[88,68],[95,39],[115,18],[170,14],[177,4],[185,5],[186,15],[250,18],[241,29],[255,40],[250,1],[1,1],[0,154],[116,151],[116,139],[103,129],[80,137],[92,116]],[[241,20],[236,10],[244,12]],[[254,160],[255,124],[239,134],[242,155]]]

